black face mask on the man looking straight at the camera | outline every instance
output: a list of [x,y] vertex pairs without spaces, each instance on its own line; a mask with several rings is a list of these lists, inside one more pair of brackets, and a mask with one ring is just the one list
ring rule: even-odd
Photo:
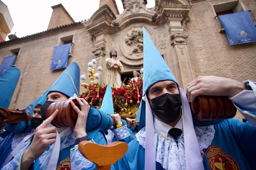
[[152,101],[152,110],[155,115],[166,123],[172,123],[179,117],[182,106],[179,94],[165,93]]

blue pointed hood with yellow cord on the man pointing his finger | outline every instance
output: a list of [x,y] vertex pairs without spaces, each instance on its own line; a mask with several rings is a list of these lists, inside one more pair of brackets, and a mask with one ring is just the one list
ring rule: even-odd
[[50,89],[46,92],[46,95],[38,102],[38,104],[44,104],[46,97],[51,91],[59,91],[68,97],[72,97],[76,94],[79,97],[80,90],[80,68],[76,62],[72,62],[61,73],[59,78],[52,84]]

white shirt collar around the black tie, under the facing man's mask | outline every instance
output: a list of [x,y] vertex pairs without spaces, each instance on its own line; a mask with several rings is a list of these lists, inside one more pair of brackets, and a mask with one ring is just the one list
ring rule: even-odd
[[[161,133],[164,136],[170,136],[168,134],[168,132],[169,132],[169,130],[171,128],[173,128],[171,125],[168,125],[168,124],[166,124],[164,122],[161,122],[161,121],[159,121],[157,119],[155,119],[155,121],[154,121],[154,127],[156,128],[156,130],[159,133]],[[182,132],[183,132],[182,116],[181,116],[180,120],[177,122],[177,124],[174,127],[181,129]]]

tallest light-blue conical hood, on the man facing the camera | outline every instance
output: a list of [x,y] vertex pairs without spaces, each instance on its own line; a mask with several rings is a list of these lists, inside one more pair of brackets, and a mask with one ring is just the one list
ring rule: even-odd
[[170,80],[178,84],[163,57],[143,27],[143,95],[149,87],[161,80]]

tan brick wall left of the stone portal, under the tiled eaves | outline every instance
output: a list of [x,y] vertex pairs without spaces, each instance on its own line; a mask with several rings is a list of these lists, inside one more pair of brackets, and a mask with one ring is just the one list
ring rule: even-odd
[[[20,48],[16,67],[20,69],[21,75],[9,109],[25,109],[31,102],[51,87],[54,81],[65,69],[50,71],[54,46],[58,45],[60,37],[73,35],[72,61],[78,63],[81,74],[87,71],[87,63],[92,59],[93,47],[90,35],[84,28],[59,31],[53,35],[42,36],[35,40],[17,43],[8,47],[0,45],[0,63],[7,57],[10,49]],[[88,79],[87,79],[88,82]],[[81,87],[81,86],[80,86]],[[80,93],[85,91],[81,87]]]

